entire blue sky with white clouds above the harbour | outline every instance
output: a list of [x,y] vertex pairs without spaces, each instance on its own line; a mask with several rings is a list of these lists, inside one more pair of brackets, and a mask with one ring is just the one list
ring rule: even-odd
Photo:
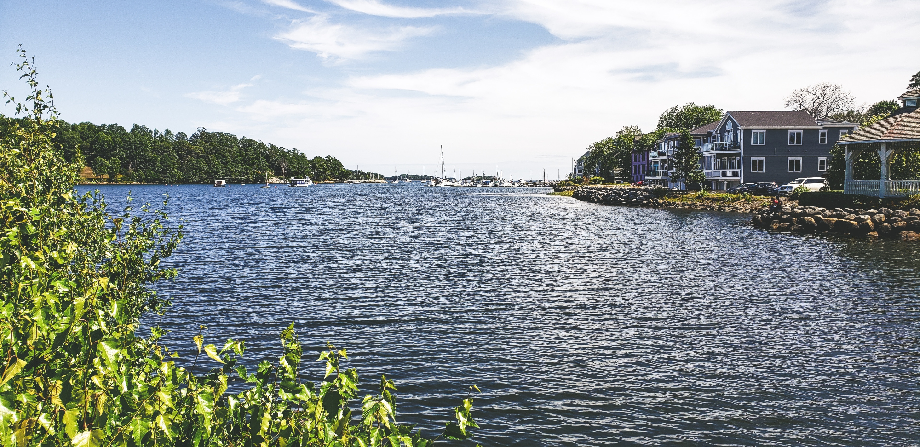
[[[0,0],[63,120],[209,131],[385,175],[557,178],[687,102],[780,110],[799,87],[893,99],[920,1]],[[20,95],[0,63],[0,89]],[[8,106],[0,107],[9,113]]]

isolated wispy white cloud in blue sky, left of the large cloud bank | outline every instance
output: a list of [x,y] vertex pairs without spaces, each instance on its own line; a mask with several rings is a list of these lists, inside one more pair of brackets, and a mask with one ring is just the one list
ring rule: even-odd
[[316,52],[324,59],[361,59],[371,52],[392,52],[408,39],[431,34],[432,27],[369,28],[332,23],[326,16],[293,20],[290,29],[275,36],[297,50]]

